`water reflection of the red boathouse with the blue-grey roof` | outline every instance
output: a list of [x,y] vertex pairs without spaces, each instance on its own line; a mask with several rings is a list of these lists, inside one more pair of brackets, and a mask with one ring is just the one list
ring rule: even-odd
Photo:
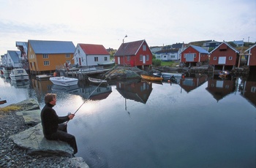
[[189,93],[190,91],[194,90],[200,85],[203,85],[203,83],[206,83],[207,80],[208,80],[207,75],[190,74],[184,78],[181,78],[179,80],[179,85],[181,86],[181,88],[187,91],[187,93]]

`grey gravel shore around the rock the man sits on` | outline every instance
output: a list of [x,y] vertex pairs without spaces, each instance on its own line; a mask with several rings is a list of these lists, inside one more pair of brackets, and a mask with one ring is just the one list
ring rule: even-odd
[[0,115],[0,167],[72,167],[68,157],[29,156],[9,138],[29,129],[15,112]]

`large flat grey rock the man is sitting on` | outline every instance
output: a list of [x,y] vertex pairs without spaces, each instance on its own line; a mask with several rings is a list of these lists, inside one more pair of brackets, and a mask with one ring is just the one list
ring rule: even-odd
[[42,134],[42,124],[10,136],[16,145],[27,149],[29,155],[72,156],[72,148],[67,142],[46,140]]

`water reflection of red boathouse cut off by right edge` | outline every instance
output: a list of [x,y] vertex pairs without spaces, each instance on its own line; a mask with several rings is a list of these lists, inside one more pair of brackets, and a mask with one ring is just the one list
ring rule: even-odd
[[241,80],[238,84],[241,95],[256,107],[256,77]]

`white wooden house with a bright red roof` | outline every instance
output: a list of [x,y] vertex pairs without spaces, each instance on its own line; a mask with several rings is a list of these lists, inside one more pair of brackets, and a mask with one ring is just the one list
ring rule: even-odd
[[110,54],[103,45],[78,44],[74,59],[79,66],[97,66],[109,62]]

